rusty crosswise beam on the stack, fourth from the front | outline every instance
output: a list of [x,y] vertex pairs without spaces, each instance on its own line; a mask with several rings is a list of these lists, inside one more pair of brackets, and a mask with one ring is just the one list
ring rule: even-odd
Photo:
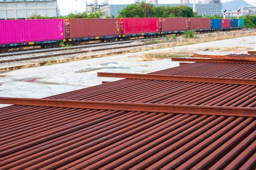
[[201,54],[193,54],[192,57],[206,57],[206,58],[213,58],[213,59],[224,59],[224,60],[242,60],[242,61],[256,61],[255,55],[201,55]]

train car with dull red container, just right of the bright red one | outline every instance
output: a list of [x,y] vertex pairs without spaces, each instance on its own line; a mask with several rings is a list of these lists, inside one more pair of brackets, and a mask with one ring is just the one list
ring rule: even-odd
[[183,33],[189,30],[188,18],[160,18],[162,34]]

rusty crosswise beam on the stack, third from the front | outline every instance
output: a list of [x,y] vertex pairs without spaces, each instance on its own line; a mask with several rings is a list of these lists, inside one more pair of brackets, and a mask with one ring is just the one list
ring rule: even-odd
[[243,63],[243,64],[256,64],[253,61],[241,60],[221,60],[221,59],[202,59],[202,58],[171,58],[173,62],[216,62],[216,63]]

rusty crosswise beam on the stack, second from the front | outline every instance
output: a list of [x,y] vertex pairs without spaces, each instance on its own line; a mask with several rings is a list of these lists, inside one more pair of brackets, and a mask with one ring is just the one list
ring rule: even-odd
[[183,81],[183,82],[256,85],[256,79],[238,79],[238,78],[222,78],[222,77],[198,77],[198,76],[181,76],[181,75],[152,75],[152,74],[128,74],[128,73],[99,73],[99,72],[98,72],[98,77],[118,77],[118,78],[129,78],[129,79],[153,79],[153,80]]

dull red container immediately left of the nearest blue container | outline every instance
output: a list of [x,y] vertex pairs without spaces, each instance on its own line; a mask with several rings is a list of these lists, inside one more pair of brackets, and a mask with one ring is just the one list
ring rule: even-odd
[[191,31],[211,30],[211,18],[189,18],[189,25]]

